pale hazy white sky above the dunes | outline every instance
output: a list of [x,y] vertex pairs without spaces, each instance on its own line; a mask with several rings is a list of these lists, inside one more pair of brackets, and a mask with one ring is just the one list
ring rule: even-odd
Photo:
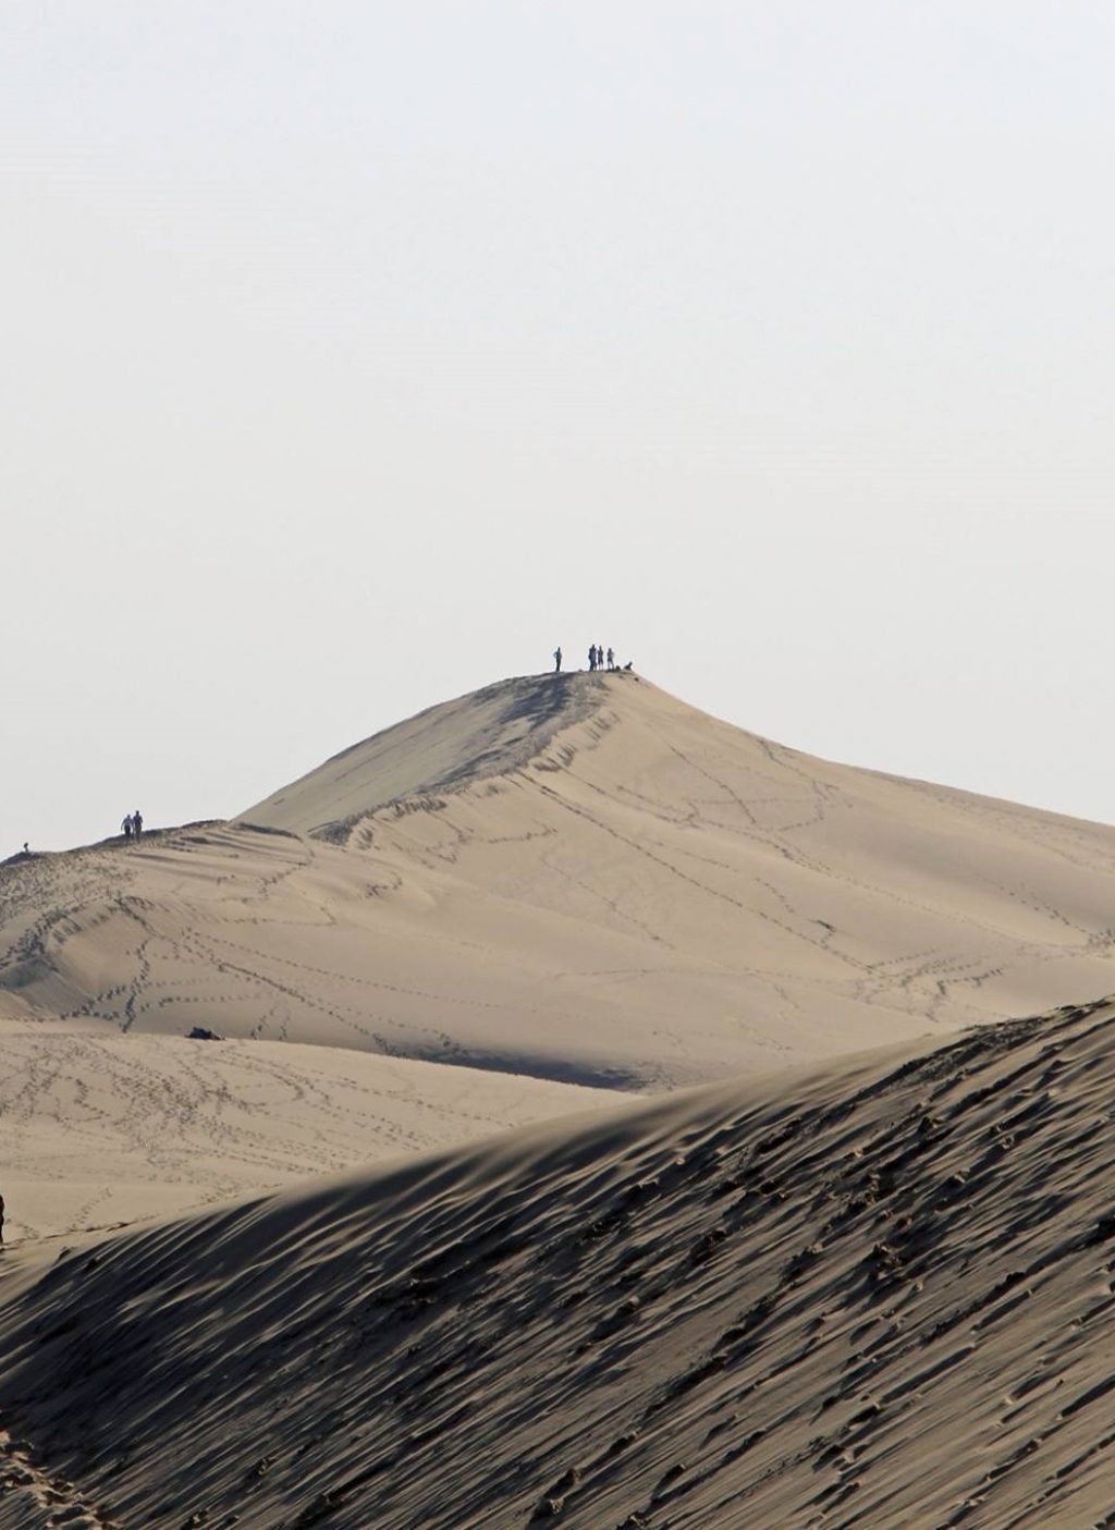
[[0,3],[0,857],[590,641],[1115,819],[1115,9]]

